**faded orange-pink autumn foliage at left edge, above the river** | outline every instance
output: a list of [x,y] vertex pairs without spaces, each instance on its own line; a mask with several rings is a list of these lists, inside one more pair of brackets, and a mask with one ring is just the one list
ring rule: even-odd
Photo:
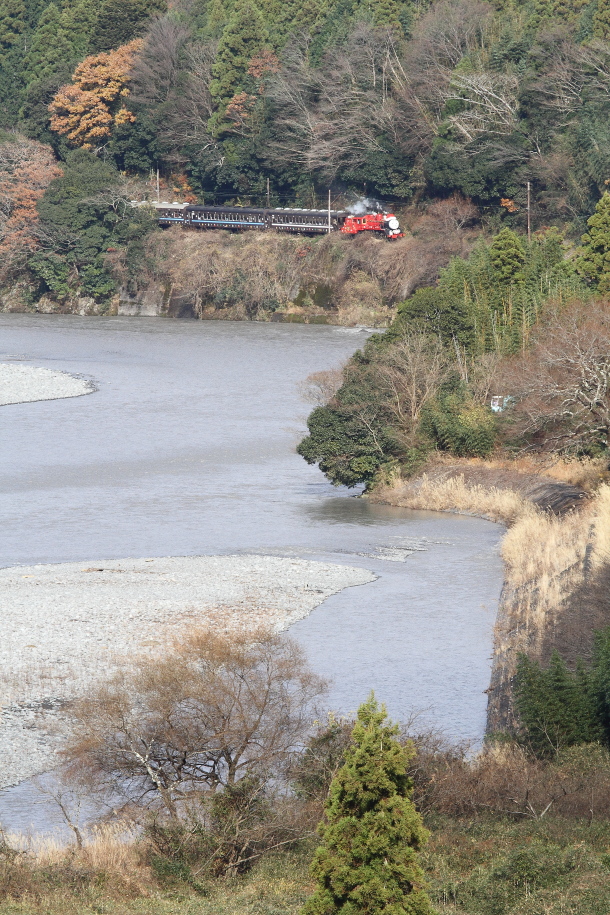
[[61,169],[49,146],[15,135],[0,143],[0,281],[36,249],[36,204]]

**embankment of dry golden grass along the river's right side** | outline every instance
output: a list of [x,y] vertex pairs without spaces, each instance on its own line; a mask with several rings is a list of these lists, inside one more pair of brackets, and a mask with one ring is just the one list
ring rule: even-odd
[[490,685],[487,733],[516,725],[513,681],[521,652],[542,663],[557,650],[568,663],[590,657],[593,635],[610,623],[596,592],[610,558],[610,486],[602,466],[438,461],[407,481],[370,493],[377,502],[451,511],[506,525],[505,564]]

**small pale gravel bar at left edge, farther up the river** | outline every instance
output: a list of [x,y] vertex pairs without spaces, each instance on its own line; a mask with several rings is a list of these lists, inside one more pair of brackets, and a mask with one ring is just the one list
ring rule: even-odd
[[12,362],[0,363],[0,406],[10,403],[32,403],[37,400],[61,400],[91,394],[95,386],[84,378]]

